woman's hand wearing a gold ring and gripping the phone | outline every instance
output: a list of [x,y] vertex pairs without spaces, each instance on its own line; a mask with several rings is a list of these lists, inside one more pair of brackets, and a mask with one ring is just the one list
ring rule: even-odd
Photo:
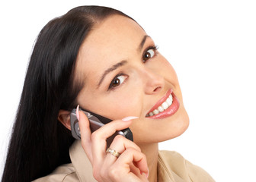
[[146,155],[132,141],[117,135],[110,144],[110,149],[119,152],[120,156],[116,157],[106,153],[107,138],[112,136],[117,130],[129,127],[132,121],[111,121],[94,131],[94,133],[91,133],[86,115],[82,111],[79,111],[78,115],[82,147],[91,162],[93,175],[96,180],[99,182],[148,181],[149,171]]

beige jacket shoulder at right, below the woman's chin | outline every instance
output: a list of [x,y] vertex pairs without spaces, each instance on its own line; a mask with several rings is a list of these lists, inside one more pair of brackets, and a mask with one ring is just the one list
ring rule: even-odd
[[174,151],[159,151],[158,164],[164,170],[185,181],[215,181],[203,168],[188,162],[180,153]]

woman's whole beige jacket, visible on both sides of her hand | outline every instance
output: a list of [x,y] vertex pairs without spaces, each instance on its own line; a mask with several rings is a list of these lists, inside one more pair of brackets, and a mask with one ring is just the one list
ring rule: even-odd
[[[40,177],[34,182],[94,182],[91,163],[77,140],[69,149],[72,163],[61,165],[46,177]],[[159,151],[158,181],[161,182],[212,182],[212,177],[202,168],[187,162],[178,152]]]

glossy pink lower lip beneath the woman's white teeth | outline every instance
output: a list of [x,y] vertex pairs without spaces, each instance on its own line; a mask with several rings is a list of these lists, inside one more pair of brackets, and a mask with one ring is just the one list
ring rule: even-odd
[[168,118],[171,115],[174,115],[176,111],[178,111],[178,108],[180,107],[180,102],[178,101],[178,98],[174,95],[174,93],[171,93],[172,96],[172,104],[170,107],[168,107],[165,111],[162,111],[158,113],[157,115],[149,116],[146,118],[150,119],[163,119],[163,118]]

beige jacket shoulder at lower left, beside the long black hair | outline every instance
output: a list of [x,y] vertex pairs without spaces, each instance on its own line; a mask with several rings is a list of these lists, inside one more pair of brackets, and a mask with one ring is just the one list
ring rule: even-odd
[[54,170],[51,174],[40,177],[37,180],[33,180],[33,182],[71,182],[71,181],[79,181],[78,176],[75,173],[75,168],[72,164],[60,165],[56,170]]

